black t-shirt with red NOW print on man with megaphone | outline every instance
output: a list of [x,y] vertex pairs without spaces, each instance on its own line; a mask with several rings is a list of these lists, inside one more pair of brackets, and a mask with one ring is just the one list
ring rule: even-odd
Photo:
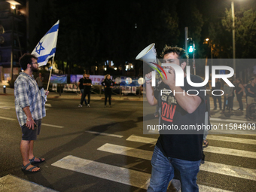
[[[194,83],[203,82],[202,78],[190,75],[190,79]],[[162,87],[161,87],[162,86]],[[158,87],[159,88],[159,87]],[[160,84],[160,88],[169,90],[166,84]],[[158,102],[161,102],[160,125],[176,126],[178,130],[160,130],[160,136],[157,140],[157,147],[167,157],[177,158],[181,160],[196,161],[202,158],[203,151],[203,130],[181,130],[181,127],[189,127],[190,125],[203,125],[206,111],[205,92],[206,87],[192,87],[187,84],[187,78],[184,78],[184,87],[181,87],[185,94],[187,90],[197,90],[202,102],[193,113],[189,114],[180,105],[172,93],[158,95]],[[197,91],[189,91],[190,95],[197,94]],[[179,94],[179,93],[175,93]],[[191,127],[191,126],[190,126]],[[188,134],[190,133],[190,134]]]

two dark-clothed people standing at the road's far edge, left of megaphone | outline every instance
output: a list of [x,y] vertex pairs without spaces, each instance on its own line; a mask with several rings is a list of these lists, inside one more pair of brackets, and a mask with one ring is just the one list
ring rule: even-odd
[[[111,93],[114,86],[114,81],[111,80],[111,76],[109,74],[105,75],[104,80],[102,81],[102,86],[104,86],[104,92],[105,92],[105,105],[107,106],[107,101],[109,103],[109,107],[111,108]],[[78,87],[81,91],[81,101],[78,107],[82,107],[83,103],[87,105],[87,107],[90,107],[90,90],[92,87],[92,81],[90,80],[90,75],[84,74],[83,78],[81,78],[78,82]],[[88,99],[86,100],[86,96],[88,96]]]

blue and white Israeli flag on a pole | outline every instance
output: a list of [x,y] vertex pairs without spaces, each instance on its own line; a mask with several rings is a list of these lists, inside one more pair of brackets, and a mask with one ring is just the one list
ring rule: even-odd
[[59,20],[50,28],[43,38],[35,46],[32,55],[38,57],[38,65],[45,66],[48,59],[55,55],[56,44],[59,32]]

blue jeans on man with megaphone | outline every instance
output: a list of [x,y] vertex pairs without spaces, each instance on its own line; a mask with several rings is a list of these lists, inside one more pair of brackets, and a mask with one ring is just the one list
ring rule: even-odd
[[148,192],[166,191],[169,181],[174,177],[174,169],[180,174],[182,192],[198,192],[197,173],[200,170],[200,161],[179,160],[166,157],[155,146],[151,160],[152,172]]

